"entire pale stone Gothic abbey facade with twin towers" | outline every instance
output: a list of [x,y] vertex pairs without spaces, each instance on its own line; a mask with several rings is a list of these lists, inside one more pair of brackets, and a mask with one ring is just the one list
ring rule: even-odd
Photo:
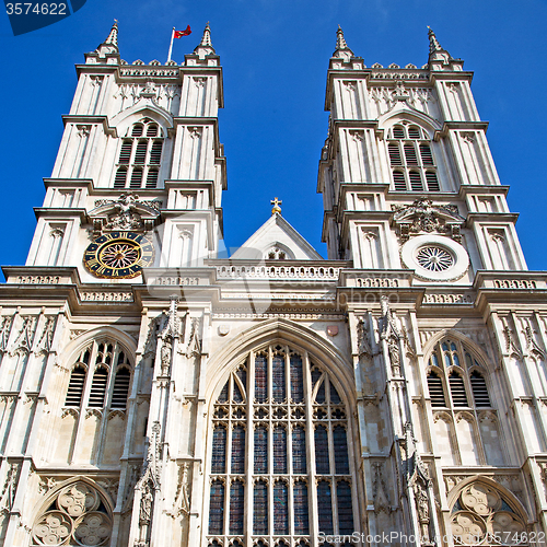
[[470,92],[366,68],[338,30],[328,259],[271,217],[219,258],[222,69],[121,60],[78,88],[24,267],[0,287],[5,546],[544,543],[547,275]]

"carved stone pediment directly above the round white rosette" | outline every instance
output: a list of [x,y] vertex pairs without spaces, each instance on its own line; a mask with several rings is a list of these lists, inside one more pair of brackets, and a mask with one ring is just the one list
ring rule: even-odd
[[420,198],[412,205],[392,205],[392,210],[401,243],[420,232],[438,232],[450,235],[458,243],[462,241],[459,231],[465,219],[458,214],[456,206],[434,206],[431,199]]

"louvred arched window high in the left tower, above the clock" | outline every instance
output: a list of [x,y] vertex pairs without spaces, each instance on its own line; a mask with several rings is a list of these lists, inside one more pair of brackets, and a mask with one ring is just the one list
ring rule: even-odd
[[115,188],[155,188],[160,175],[163,138],[159,125],[144,118],[121,141]]

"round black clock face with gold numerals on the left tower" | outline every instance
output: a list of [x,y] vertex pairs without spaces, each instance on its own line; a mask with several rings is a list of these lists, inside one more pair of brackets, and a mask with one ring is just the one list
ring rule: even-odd
[[85,269],[101,278],[137,277],[154,261],[152,242],[135,232],[109,232],[93,240],[83,254]]

